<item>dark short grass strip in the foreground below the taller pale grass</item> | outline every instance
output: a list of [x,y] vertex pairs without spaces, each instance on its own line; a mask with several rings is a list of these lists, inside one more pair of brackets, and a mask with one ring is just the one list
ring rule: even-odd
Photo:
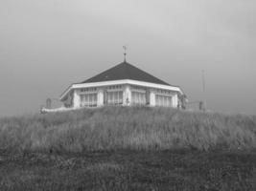
[[255,191],[256,154],[115,151],[0,155],[2,191]]

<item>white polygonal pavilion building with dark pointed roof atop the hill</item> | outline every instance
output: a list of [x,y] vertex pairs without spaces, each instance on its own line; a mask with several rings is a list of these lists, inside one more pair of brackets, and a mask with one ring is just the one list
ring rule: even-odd
[[178,86],[123,63],[69,86],[60,96],[66,109],[122,106],[180,107],[184,93]]

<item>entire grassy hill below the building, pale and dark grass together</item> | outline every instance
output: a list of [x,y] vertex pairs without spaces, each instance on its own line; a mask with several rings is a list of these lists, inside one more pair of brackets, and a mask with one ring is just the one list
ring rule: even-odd
[[256,117],[105,107],[0,119],[0,190],[256,190]]

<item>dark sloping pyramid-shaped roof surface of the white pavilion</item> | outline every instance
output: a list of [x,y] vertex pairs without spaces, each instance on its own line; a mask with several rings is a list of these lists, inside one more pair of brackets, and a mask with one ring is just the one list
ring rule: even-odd
[[151,82],[156,84],[170,85],[165,81],[158,79],[157,77],[148,74],[135,66],[132,66],[128,62],[122,62],[101,74],[97,74],[81,83],[90,83],[90,82],[101,82],[101,81],[110,81],[110,80],[120,80],[120,79],[133,79],[138,81]]

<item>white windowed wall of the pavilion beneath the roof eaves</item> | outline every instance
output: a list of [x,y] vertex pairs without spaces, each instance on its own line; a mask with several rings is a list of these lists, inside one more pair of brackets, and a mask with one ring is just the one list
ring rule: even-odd
[[76,89],[72,94],[73,108],[101,107],[104,105],[178,107],[178,96],[176,92],[128,84]]

